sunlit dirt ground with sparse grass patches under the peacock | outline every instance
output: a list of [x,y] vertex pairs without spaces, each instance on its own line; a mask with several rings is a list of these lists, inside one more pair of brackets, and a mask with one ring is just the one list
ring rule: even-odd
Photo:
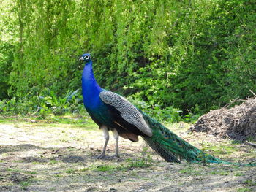
[[[255,148],[203,133],[189,125],[168,126],[207,153],[226,161],[255,161]],[[256,167],[223,164],[171,164],[140,138],[120,139],[121,158],[97,159],[103,144],[96,126],[0,121],[0,191],[256,191]]]

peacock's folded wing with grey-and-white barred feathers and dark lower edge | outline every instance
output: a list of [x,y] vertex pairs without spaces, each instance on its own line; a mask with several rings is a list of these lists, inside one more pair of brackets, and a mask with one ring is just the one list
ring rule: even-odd
[[[124,97],[111,91],[102,91],[99,93],[99,97],[105,104],[107,104],[107,106],[109,106],[109,110],[113,113],[116,123],[121,125],[129,123],[132,125],[129,127],[132,127],[133,129],[131,132],[135,133],[140,131],[148,137],[152,136],[151,128],[147,125],[143,115],[133,104],[127,101],[127,99],[124,99]],[[127,126],[123,127],[127,128]]]

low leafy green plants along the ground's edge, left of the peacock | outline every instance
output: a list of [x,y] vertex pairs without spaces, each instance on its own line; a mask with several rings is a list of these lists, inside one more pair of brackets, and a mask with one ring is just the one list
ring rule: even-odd
[[13,97],[10,100],[0,101],[0,112],[5,115],[29,115],[37,112],[42,118],[49,114],[65,115],[67,113],[80,112],[83,110],[83,99],[78,95],[78,90],[67,91],[63,97],[57,96],[49,88],[42,91],[42,96],[31,96],[18,99]]

